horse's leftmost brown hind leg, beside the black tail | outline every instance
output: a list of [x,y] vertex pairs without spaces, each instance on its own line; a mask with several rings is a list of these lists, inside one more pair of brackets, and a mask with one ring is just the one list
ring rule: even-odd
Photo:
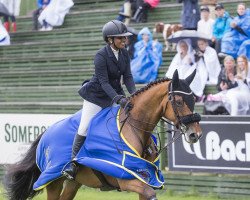
[[64,179],[60,178],[51,182],[47,187],[47,200],[59,200],[63,189]]

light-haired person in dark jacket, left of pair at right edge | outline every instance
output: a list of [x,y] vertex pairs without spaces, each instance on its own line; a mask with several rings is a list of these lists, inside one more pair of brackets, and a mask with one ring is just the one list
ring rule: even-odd
[[218,91],[225,91],[237,87],[238,83],[235,81],[235,75],[235,60],[232,56],[226,56],[224,59],[224,67],[221,69],[218,78]]

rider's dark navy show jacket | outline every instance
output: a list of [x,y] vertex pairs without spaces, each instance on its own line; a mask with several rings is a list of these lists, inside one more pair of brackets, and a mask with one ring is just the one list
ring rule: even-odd
[[100,49],[94,59],[95,74],[78,91],[87,101],[102,108],[111,106],[116,95],[125,95],[121,86],[121,77],[130,94],[135,92],[135,83],[130,70],[130,58],[127,50],[120,49],[118,61],[109,45]]

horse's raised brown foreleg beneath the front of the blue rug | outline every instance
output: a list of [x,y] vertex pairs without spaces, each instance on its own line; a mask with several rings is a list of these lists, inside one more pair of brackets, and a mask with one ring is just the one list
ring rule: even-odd
[[154,189],[137,179],[118,179],[118,183],[121,190],[138,193],[140,200],[157,200]]

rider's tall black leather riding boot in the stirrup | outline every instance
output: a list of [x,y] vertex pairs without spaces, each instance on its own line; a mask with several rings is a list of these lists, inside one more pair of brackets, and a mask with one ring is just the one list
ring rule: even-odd
[[[79,150],[82,147],[85,140],[86,140],[85,136],[81,136],[79,134],[76,134],[76,136],[74,138],[73,147],[72,147],[71,160],[73,160],[76,157],[77,153],[79,152]],[[69,169],[66,169],[62,173],[69,180],[74,180],[75,176],[76,176],[76,173],[77,173],[77,170],[78,170],[77,163],[72,161],[71,167]]]

